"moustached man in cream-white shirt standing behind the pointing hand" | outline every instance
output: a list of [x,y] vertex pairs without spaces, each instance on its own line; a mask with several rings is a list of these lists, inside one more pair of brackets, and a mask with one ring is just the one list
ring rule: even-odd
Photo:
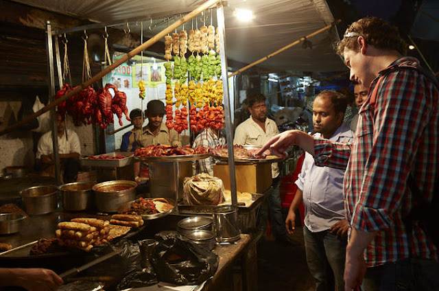
[[[260,93],[250,93],[247,97],[250,117],[239,124],[235,131],[233,143],[236,145],[263,146],[268,140],[279,133],[276,122],[267,118],[267,106],[265,96]],[[272,193],[267,197],[270,225],[276,236],[276,240],[292,243],[285,229],[282,215],[282,204],[279,178],[279,167],[272,163]]]

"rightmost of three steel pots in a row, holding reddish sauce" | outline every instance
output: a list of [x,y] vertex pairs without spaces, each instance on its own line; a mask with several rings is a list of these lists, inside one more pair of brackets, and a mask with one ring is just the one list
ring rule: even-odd
[[97,211],[117,212],[117,207],[136,198],[137,183],[128,180],[107,181],[93,186]]

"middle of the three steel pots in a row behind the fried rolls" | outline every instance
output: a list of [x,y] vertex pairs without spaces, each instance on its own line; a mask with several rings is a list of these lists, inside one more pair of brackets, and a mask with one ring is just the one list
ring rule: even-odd
[[60,186],[62,205],[66,211],[82,211],[93,207],[92,183],[78,182]]

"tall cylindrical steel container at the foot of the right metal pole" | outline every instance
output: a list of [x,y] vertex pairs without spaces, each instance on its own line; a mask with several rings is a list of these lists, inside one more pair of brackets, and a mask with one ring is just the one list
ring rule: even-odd
[[235,242],[241,238],[238,211],[233,205],[213,209],[213,230],[217,242]]

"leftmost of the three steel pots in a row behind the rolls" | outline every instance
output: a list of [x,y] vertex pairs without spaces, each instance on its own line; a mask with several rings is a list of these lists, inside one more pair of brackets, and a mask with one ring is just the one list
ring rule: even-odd
[[45,214],[58,209],[58,187],[55,185],[29,187],[20,194],[27,214]]

